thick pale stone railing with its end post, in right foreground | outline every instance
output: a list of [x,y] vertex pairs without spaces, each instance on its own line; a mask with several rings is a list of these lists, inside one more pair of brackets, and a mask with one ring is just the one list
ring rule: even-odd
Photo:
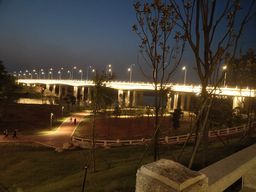
[[171,160],[141,166],[136,192],[222,192],[242,178],[242,191],[256,191],[256,144],[198,172]]

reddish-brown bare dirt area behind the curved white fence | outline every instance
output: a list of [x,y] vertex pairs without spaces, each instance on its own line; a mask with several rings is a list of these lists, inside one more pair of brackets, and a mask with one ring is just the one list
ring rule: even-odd
[[[149,125],[148,125],[149,121]],[[109,136],[140,136],[154,134],[154,117],[139,117],[139,118],[110,118]],[[162,121],[162,132],[169,132],[170,118],[166,117]],[[96,119],[95,132],[98,136],[108,136],[109,119],[104,120],[101,118]],[[181,125],[188,125],[187,121],[180,121]],[[172,129],[172,121],[170,122],[170,130]],[[90,135],[92,133],[92,121],[82,125],[79,134]]]

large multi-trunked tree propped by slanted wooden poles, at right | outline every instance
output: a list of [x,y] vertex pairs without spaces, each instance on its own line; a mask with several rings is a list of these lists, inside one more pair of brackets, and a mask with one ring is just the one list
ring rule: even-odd
[[[194,132],[196,124],[200,121],[202,125],[201,132],[203,132],[203,166],[207,165],[208,161],[208,131],[209,122],[208,112],[212,103],[212,96],[219,88],[220,83],[224,77],[225,71],[221,72],[220,63],[225,59],[225,64],[230,66],[230,60],[235,58],[237,43],[239,38],[243,35],[245,24],[255,15],[253,5],[255,0],[252,0],[248,12],[240,24],[237,23],[237,13],[241,11],[241,0],[227,0],[216,11],[217,0],[184,0],[177,3],[177,0],[170,0],[176,17],[179,19],[177,24],[185,32],[188,42],[196,57],[196,73],[202,83],[202,102],[200,111],[196,119],[196,123],[191,131]],[[248,1],[246,1],[248,3]],[[226,28],[223,27],[223,21],[226,18]],[[214,23],[214,20],[217,19]],[[195,23],[195,24],[194,24]],[[222,23],[222,24],[220,24]],[[238,27],[235,32],[234,26]],[[216,29],[221,28],[223,31],[221,36],[216,34]],[[194,36],[195,31],[195,36]],[[215,46],[217,44],[217,46]],[[201,49],[199,49],[201,47]],[[216,48],[215,48],[216,47]],[[228,52],[232,49],[231,52]],[[225,55],[223,57],[223,55]],[[231,59],[230,59],[231,57]],[[212,91],[208,91],[208,87]],[[188,137],[189,139],[190,137]],[[201,137],[197,141],[197,146],[201,142]],[[184,144],[186,146],[187,141]],[[179,160],[182,154],[181,150],[176,161]],[[194,150],[189,168],[193,164],[197,149]]]

